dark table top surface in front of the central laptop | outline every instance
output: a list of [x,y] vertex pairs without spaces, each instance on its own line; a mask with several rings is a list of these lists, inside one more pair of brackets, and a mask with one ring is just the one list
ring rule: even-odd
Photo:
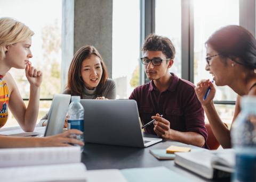
[[[147,137],[152,135],[144,134]],[[154,135],[153,135],[154,136]],[[173,160],[158,160],[149,153],[150,149],[166,149],[170,145],[188,146],[198,148],[197,146],[187,145],[180,142],[163,140],[148,148],[132,148],[126,146],[103,145],[94,143],[85,143],[82,153],[82,162],[88,170],[94,169],[127,169],[127,168],[145,168],[164,166],[181,175],[189,177],[195,181],[213,181],[207,180],[194,174],[182,167],[177,166]],[[218,180],[220,181],[220,180]]]

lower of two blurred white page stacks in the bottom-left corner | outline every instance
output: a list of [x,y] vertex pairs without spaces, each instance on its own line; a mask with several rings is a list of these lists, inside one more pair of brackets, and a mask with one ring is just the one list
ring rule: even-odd
[[83,163],[1,168],[0,176],[1,182],[86,181],[87,178]]

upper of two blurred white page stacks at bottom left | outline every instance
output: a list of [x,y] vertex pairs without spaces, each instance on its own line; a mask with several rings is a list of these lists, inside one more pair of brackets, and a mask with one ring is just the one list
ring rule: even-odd
[[80,150],[79,146],[1,149],[0,167],[78,163]]

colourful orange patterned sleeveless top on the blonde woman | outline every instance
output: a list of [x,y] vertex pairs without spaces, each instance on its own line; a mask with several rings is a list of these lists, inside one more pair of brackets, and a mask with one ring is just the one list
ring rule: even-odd
[[9,102],[9,90],[3,76],[0,75],[0,128],[5,125],[8,118],[7,105]]

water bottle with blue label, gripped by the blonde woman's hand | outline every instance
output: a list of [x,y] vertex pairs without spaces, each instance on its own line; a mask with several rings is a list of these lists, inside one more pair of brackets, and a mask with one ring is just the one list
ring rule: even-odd
[[[68,129],[78,129],[84,132],[84,107],[80,103],[80,96],[72,96],[68,108]],[[72,136],[84,142],[83,135]],[[81,146],[81,151],[83,147]]]

